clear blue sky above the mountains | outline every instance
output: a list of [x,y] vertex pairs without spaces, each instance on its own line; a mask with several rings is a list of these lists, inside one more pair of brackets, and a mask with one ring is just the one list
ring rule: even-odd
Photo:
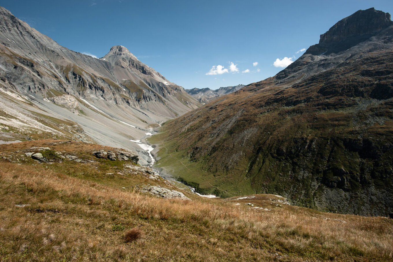
[[370,7],[393,13],[392,0],[1,0],[0,6],[77,52],[102,57],[111,46],[126,46],[187,89],[274,76],[338,20]]

